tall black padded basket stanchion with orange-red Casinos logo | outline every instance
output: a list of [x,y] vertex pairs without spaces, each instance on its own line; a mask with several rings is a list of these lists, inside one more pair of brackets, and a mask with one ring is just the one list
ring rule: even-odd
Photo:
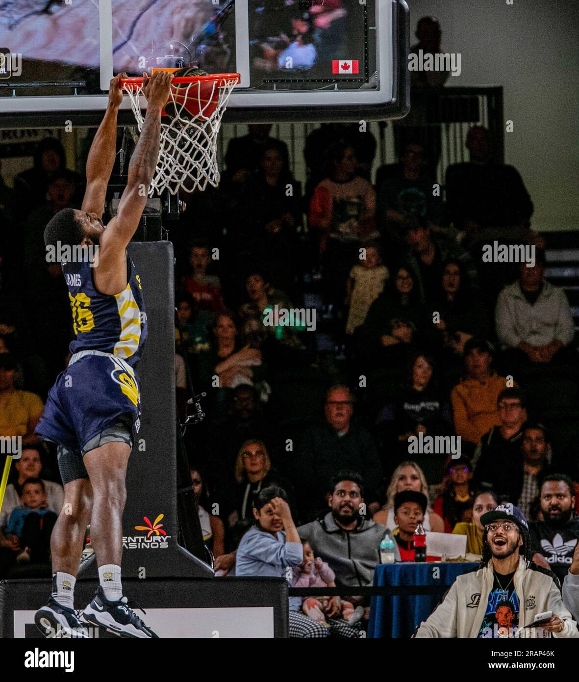
[[[123,578],[211,578],[211,567],[177,542],[173,246],[135,242],[129,255],[143,288],[148,338],[136,368],[142,414],[127,469]],[[89,559],[79,577],[95,576],[96,562]]]

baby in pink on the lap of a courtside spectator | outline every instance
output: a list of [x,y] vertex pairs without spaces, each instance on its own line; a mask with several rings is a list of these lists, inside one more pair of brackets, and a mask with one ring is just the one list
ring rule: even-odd
[[[319,557],[314,558],[313,549],[306,540],[302,540],[304,546],[304,559],[299,566],[294,568],[294,579],[292,587],[336,587],[334,582],[336,576],[325,561]],[[324,611],[328,606],[330,597],[304,597],[302,601],[302,611],[309,618],[318,623],[326,623]],[[341,602],[342,617],[354,625],[364,616],[364,608],[358,606],[354,608],[351,602]]]

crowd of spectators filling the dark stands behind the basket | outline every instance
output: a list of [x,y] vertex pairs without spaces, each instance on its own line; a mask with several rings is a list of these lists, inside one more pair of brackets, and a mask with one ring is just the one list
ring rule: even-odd
[[[420,26],[423,46],[437,41],[432,29]],[[429,147],[414,134],[420,123],[407,124],[396,132],[399,162],[375,178],[370,133],[315,130],[305,188],[283,140],[250,125],[229,145],[219,188],[185,197],[170,226],[178,406],[183,419],[189,364],[207,393],[206,420],[187,432],[191,483],[221,574],[296,567],[292,584],[366,586],[386,529],[398,557],[413,551],[417,520],[467,535],[467,551],[480,554],[480,517],[502,501],[535,524],[537,561],[559,572],[570,563],[579,404],[556,415],[549,398],[559,378],[576,398],[577,351],[565,293],[545,279],[533,204],[517,171],[492,161],[481,126],[467,137],[470,161],[450,166],[445,192],[433,194],[436,134]],[[42,230],[80,205],[82,178],[44,140],[34,167],[0,192],[0,436],[25,441],[0,517],[5,575],[48,562],[50,514],[62,505],[54,452],[33,433],[71,332]],[[535,248],[501,291],[482,260],[488,228]],[[273,310],[289,322],[266,323]],[[315,312],[314,324],[299,310]],[[419,436],[458,437],[458,456],[410,456]],[[258,555],[268,552],[266,567]],[[367,606],[355,595],[347,606],[294,602],[299,636],[358,636]]]

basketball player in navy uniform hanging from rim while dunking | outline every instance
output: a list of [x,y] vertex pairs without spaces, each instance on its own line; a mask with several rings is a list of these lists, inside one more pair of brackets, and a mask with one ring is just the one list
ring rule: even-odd
[[[70,345],[68,367],[50,389],[36,428],[43,440],[58,445],[65,491],[50,541],[52,595],[35,614],[35,623],[46,636],[87,636],[82,617],[120,636],[157,637],[127,606],[121,589],[125,474],[140,427],[134,365],[146,338],[141,282],[127,245],[138,227],[155,171],[161,109],[169,98],[172,76],[157,72],[143,78],[144,125],[118,212],[104,226],[101,217],[114,166],[116,115],[123,101],[121,76],[111,80],[106,113],[89,152],[82,208],[59,211],[44,231],[46,246],[57,248],[57,242],[61,248],[98,246],[94,262],[61,264],[76,340]],[[74,584],[89,521],[99,587],[81,614],[74,610]]]

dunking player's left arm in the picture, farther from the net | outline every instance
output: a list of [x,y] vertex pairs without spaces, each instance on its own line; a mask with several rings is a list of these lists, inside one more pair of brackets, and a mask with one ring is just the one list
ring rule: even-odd
[[87,191],[84,192],[81,210],[96,213],[98,218],[103,216],[106,188],[116,154],[116,115],[123,102],[123,91],[119,85],[121,78],[127,78],[127,74],[121,73],[110,81],[106,112],[87,158]]

